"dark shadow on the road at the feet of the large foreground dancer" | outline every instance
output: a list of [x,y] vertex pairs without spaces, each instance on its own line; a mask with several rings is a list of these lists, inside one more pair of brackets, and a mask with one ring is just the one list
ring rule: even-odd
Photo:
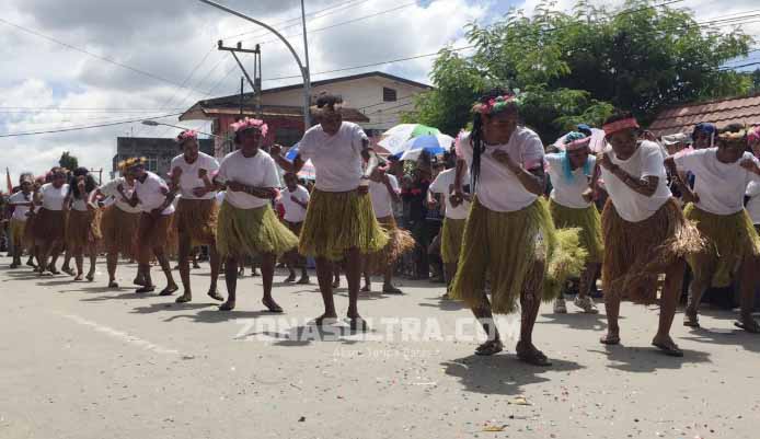
[[442,362],[445,373],[459,378],[464,390],[474,393],[519,395],[523,386],[550,381],[541,377],[543,373],[569,372],[579,370],[583,366],[573,361],[552,359],[552,366],[539,368],[526,365],[515,355],[495,355],[480,357],[472,355],[452,361]]

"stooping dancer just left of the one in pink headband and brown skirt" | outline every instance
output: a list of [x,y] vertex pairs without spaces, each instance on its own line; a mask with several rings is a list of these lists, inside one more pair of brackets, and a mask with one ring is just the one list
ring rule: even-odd
[[137,232],[138,242],[138,277],[145,285],[136,292],[146,293],[156,291],[156,286],[150,277],[150,258],[156,255],[161,270],[166,277],[166,288],[160,296],[171,296],[180,287],[174,282],[172,267],[169,265],[164,247],[169,239],[169,228],[172,226],[174,215],[174,192],[169,189],[166,183],[152,172],[146,171],[145,159],[136,159],[129,166],[129,172],[135,175],[135,192],[129,200],[130,206],[138,204],[142,209]]

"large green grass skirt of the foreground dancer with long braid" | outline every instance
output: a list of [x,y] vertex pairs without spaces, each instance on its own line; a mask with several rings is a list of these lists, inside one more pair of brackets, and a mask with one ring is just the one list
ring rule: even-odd
[[495,313],[516,310],[520,293],[554,300],[565,280],[584,269],[578,230],[556,230],[542,198],[522,210],[496,212],[475,198],[464,228],[451,296],[482,308],[486,277]]

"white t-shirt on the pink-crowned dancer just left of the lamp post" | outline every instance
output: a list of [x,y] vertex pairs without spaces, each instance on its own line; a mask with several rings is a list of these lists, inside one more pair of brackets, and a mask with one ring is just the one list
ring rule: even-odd
[[[279,187],[275,160],[258,150],[256,155],[245,158],[242,150],[230,152],[222,159],[217,180],[220,183],[238,182],[254,187]],[[227,189],[224,200],[238,209],[257,209],[269,204],[266,198],[254,197],[244,192]]]

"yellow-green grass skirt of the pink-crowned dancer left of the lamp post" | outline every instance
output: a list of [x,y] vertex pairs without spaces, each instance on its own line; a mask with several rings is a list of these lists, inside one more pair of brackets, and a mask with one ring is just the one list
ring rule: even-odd
[[222,204],[217,226],[217,250],[222,257],[281,256],[297,246],[298,236],[277,219],[272,206],[238,209]]

